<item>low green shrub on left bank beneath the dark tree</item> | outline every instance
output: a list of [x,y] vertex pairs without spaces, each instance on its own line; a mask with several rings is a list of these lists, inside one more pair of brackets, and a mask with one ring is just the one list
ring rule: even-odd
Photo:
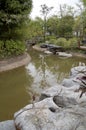
[[20,55],[25,52],[25,44],[22,41],[6,40],[0,41],[0,57]]

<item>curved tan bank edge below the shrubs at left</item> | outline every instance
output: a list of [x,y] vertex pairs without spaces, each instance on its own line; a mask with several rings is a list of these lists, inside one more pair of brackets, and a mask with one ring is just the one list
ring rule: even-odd
[[31,57],[27,53],[6,60],[0,60],[0,72],[12,70],[14,68],[27,65],[30,60]]

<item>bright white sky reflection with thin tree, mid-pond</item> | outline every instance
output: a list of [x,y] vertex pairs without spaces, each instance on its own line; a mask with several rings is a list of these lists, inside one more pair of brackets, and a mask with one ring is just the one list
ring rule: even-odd
[[31,62],[27,66],[27,69],[29,75],[33,78],[33,82],[31,84],[32,91],[40,93],[44,88],[57,84],[56,75],[50,70],[44,55],[40,55],[40,65],[38,68]]

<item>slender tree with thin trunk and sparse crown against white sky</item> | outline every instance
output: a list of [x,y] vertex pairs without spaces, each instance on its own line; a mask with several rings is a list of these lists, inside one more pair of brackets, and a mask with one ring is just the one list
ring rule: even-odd
[[44,19],[44,26],[43,26],[43,30],[44,30],[44,41],[46,38],[46,31],[47,31],[47,16],[50,13],[50,11],[53,9],[53,7],[48,7],[46,4],[41,5],[41,13],[43,15],[43,19]]

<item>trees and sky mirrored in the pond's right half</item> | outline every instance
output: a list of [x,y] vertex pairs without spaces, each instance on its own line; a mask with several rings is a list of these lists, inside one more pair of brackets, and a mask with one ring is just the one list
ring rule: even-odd
[[29,88],[40,94],[44,88],[52,87],[69,76],[70,69],[77,66],[81,59],[60,59],[57,56],[49,56],[34,52],[32,62],[27,66],[28,74],[32,79]]

